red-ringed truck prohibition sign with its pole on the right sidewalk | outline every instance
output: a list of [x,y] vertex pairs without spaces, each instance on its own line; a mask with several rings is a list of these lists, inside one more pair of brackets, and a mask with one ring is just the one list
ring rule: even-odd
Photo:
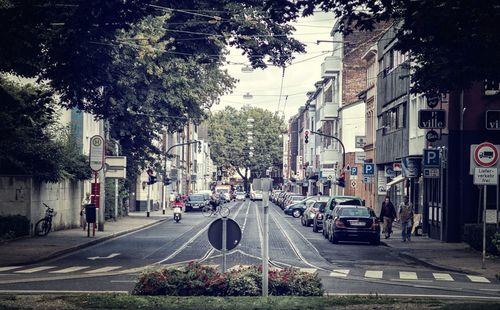
[[[489,142],[479,144],[474,150],[474,161],[480,167],[474,168],[474,184],[483,185],[483,259],[481,268],[485,269],[486,259],[486,197],[488,185],[496,185],[498,188],[498,169],[491,168],[498,162],[498,149]],[[498,194],[497,194],[498,201]],[[497,227],[498,227],[498,203],[497,203]]]

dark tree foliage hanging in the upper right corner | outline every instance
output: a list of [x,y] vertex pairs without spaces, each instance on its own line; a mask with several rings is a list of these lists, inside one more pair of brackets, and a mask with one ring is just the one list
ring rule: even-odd
[[[300,0],[285,17],[321,8],[339,18],[340,30],[371,30],[394,21],[395,48],[409,52],[412,91],[467,89],[484,79],[500,80],[500,5],[496,0]],[[389,43],[389,42],[386,42]]]

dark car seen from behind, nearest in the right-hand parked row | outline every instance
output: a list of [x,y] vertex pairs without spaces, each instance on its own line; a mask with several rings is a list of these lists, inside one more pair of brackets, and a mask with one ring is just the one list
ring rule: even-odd
[[365,206],[336,206],[328,222],[328,240],[365,241],[380,244],[380,223],[372,209]]

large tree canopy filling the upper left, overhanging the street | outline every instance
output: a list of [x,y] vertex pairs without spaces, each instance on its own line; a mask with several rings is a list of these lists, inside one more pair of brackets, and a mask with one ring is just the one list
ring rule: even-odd
[[129,167],[138,167],[159,154],[162,129],[201,121],[232,89],[222,70],[229,46],[261,68],[285,66],[304,51],[293,27],[272,16],[280,5],[3,0],[0,73],[43,81],[63,106],[106,119]]

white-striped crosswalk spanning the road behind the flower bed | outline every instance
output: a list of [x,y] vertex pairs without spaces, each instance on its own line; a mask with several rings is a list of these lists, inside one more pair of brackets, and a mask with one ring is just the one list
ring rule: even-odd
[[[219,268],[219,265],[205,265],[207,267]],[[171,268],[182,268],[182,266],[170,266]],[[236,265],[229,270],[235,270],[239,268],[247,268],[248,265]],[[271,267],[271,270],[280,270],[280,268]],[[123,271],[122,266],[102,266],[99,268],[91,266],[8,266],[0,267],[0,275],[9,274],[41,274],[48,273],[54,275],[63,274],[101,274],[112,271]],[[342,278],[348,279],[350,277],[354,278],[365,278],[369,279],[384,279],[384,280],[397,280],[397,281],[419,281],[419,280],[432,280],[437,282],[473,282],[473,283],[492,283],[492,281],[483,276],[468,275],[468,274],[449,274],[443,272],[414,272],[414,271],[383,271],[383,270],[350,270],[350,269],[333,269],[329,272],[324,270],[317,270],[315,268],[298,268],[298,270],[307,273],[319,273],[321,277],[326,278]],[[1,278],[0,278],[1,279]]]

